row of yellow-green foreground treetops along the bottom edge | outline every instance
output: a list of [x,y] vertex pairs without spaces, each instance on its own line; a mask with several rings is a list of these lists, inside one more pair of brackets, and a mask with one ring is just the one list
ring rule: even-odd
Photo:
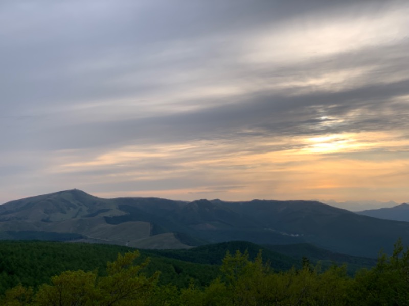
[[329,269],[303,258],[301,268],[275,271],[248,252],[226,253],[219,275],[203,285],[191,278],[186,287],[160,284],[160,271],[147,275],[149,259],[139,251],[119,253],[103,275],[97,270],[68,270],[38,288],[8,289],[4,305],[407,305],[409,249],[398,240],[391,256],[380,253],[372,269],[347,274],[346,266]]

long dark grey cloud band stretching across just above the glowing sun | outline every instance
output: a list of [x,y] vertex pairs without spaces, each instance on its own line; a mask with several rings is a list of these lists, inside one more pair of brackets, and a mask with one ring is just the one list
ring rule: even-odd
[[[342,92],[318,92],[288,97],[260,92],[239,103],[137,120],[84,123],[35,131],[38,145],[50,149],[101,147],[124,143],[173,143],[197,139],[258,136],[301,136],[325,133],[409,131],[407,102],[393,98],[409,94],[409,79],[366,85]],[[235,97],[236,98],[236,97]],[[354,111],[359,111],[352,114]],[[320,119],[323,115],[342,119]],[[328,125],[323,124],[328,123]],[[322,125],[317,129],[317,125]],[[41,139],[41,135],[46,138]]]

